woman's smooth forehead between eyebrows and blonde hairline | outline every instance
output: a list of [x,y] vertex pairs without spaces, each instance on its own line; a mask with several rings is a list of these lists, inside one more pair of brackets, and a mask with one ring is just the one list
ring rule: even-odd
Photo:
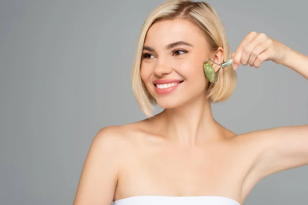
[[172,42],[185,41],[192,45],[206,42],[204,34],[193,23],[185,19],[163,20],[153,24],[147,31],[144,44],[165,46]]

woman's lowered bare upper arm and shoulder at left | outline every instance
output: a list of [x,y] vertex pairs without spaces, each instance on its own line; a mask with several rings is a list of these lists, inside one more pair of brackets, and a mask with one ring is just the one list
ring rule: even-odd
[[95,135],[81,173],[73,205],[110,205],[117,186],[121,157],[113,127]]

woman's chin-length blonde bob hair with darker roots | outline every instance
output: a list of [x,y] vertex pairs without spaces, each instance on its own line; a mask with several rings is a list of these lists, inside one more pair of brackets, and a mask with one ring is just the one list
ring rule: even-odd
[[[131,71],[132,91],[142,112],[152,117],[156,100],[150,95],[140,76],[141,55],[146,33],[150,26],[161,20],[181,18],[197,25],[205,34],[211,50],[222,47],[224,60],[230,55],[229,43],[221,19],[216,11],[205,2],[190,0],[172,0],[155,8],[146,18],[140,31],[136,54]],[[211,103],[220,102],[229,98],[236,87],[237,76],[232,66],[221,69],[218,83],[210,84],[207,98]]]

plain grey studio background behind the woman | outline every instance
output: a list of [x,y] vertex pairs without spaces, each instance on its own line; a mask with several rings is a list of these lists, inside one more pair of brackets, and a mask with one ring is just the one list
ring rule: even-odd
[[[142,23],[163,2],[0,2],[0,204],[72,204],[99,129],[145,118],[130,70]],[[256,31],[308,54],[303,1],[208,3],[232,51]],[[223,126],[241,134],[308,123],[302,76],[270,61],[237,72],[233,96],[213,105]],[[267,176],[244,204],[308,204],[307,173],[305,166]]]

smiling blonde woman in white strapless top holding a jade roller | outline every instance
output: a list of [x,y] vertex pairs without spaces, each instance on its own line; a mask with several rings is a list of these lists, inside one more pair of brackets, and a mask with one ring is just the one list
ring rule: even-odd
[[[220,65],[229,57],[208,4],[169,1],[153,10],[132,68],[134,95],[149,118],[97,133],[74,204],[239,205],[263,177],[307,165],[307,125],[237,135],[215,121],[210,104],[232,94],[240,64],[272,60],[308,79],[308,57],[251,32],[231,55],[233,65],[210,83],[204,63],[217,72],[207,59]],[[155,103],[164,111],[152,116]]]

